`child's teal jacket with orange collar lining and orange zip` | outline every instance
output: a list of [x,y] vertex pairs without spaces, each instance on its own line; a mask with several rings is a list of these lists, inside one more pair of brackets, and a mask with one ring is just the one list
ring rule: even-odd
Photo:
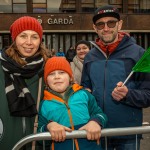
[[[77,130],[90,120],[95,120],[102,127],[105,127],[107,117],[101,108],[98,107],[94,96],[87,90],[82,89],[78,84],[69,87],[64,97],[61,97],[60,94],[52,90],[44,91],[44,100],[41,101],[39,109],[38,132],[48,131],[46,126],[49,121],[70,127],[72,130]],[[69,150],[73,149],[73,147],[75,149],[76,144],[74,146],[71,141],[55,142],[55,150]],[[78,146],[80,150],[100,149],[96,141],[89,141],[87,139],[79,139]]]

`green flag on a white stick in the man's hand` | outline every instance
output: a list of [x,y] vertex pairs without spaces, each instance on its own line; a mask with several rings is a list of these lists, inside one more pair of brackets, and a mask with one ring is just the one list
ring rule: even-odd
[[131,75],[134,72],[150,72],[150,47],[145,51],[145,53],[140,58],[140,60],[132,68],[131,73],[128,75],[128,77],[124,81],[123,85],[126,84],[126,82],[128,81],[128,79],[131,77]]

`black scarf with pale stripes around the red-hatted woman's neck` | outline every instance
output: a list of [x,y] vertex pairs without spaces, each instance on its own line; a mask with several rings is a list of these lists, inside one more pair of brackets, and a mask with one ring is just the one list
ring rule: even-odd
[[[43,66],[42,56],[25,59],[27,64],[21,66],[8,57],[5,50],[0,53],[2,68],[5,75],[5,92],[11,116],[32,117],[37,114],[36,102],[32,97],[25,79],[32,78]],[[40,73],[40,76],[42,73]]]

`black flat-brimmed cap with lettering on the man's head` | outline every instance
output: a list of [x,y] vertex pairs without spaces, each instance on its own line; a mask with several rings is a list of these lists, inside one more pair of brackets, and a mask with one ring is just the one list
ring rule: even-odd
[[115,17],[120,20],[119,10],[111,5],[99,7],[93,16],[93,23],[103,17]]

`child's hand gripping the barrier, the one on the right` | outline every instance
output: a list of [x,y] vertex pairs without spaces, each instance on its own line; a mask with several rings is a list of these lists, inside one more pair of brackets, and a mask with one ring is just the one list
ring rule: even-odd
[[86,125],[81,127],[79,130],[86,130],[87,139],[97,140],[97,144],[99,144],[99,139],[101,137],[101,127],[96,121],[89,121]]

